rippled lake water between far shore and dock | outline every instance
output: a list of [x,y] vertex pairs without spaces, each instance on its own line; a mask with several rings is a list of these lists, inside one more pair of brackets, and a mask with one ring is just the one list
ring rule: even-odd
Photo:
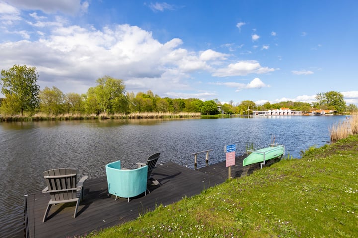
[[[135,168],[155,152],[159,161],[194,168],[191,153],[213,149],[209,164],[225,160],[224,146],[235,144],[236,155],[247,146],[273,141],[286,155],[330,141],[329,127],[345,116],[272,116],[221,119],[132,119],[0,123],[0,235],[23,237],[24,198],[42,190],[42,172],[71,167],[78,178],[105,176],[116,160]],[[198,167],[205,166],[205,153]],[[45,211],[44,207],[44,211]]]

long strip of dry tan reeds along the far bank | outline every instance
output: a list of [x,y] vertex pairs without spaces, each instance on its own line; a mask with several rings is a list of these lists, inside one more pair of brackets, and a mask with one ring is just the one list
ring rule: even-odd
[[61,115],[47,115],[38,113],[33,116],[0,116],[0,122],[18,122],[18,121],[60,121],[60,120],[96,120],[96,119],[162,119],[162,118],[200,118],[200,113],[157,113],[157,112],[142,112],[130,114],[105,114],[100,115],[90,114],[61,114]]

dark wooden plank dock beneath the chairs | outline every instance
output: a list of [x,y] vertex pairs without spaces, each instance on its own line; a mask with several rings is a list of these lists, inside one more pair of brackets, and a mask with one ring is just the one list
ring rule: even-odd
[[[232,166],[232,176],[241,177],[250,174],[260,165],[242,166],[246,157],[236,157]],[[268,163],[269,165],[269,163]],[[26,237],[28,238],[66,238],[86,235],[95,230],[115,226],[134,220],[160,204],[166,206],[184,197],[200,194],[201,191],[221,184],[228,179],[225,161],[205,166],[197,170],[167,162],[158,165],[153,178],[162,186],[150,185],[147,196],[141,194],[131,198],[118,198],[108,195],[107,178],[87,179],[84,200],[80,203],[77,217],[73,218],[75,203],[53,206],[46,222],[42,222],[49,196],[41,191],[25,196]]]

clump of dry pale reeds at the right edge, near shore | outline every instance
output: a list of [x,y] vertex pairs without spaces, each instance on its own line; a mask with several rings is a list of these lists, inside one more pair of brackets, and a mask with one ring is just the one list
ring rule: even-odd
[[358,112],[354,112],[345,121],[335,123],[329,128],[331,141],[345,139],[358,134]]

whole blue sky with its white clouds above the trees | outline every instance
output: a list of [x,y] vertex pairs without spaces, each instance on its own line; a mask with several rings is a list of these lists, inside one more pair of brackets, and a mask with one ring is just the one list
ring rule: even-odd
[[[341,92],[358,105],[356,0],[0,0],[0,69],[35,66],[40,89],[257,104]],[[0,95],[1,96],[1,95]]]

